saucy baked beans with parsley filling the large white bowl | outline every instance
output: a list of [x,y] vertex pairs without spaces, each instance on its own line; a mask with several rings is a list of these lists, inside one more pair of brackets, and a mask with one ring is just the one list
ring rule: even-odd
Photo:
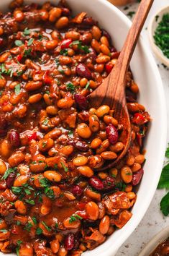
[[106,30],[65,1],[10,4],[0,14],[0,249],[18,255],[81,255],[132,217],[150,121],[127,73],[132,140],[109,106],[86,96],[116,64]]

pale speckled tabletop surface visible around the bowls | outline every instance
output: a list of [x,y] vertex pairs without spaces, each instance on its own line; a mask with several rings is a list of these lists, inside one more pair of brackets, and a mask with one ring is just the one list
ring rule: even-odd
[[[149,47],[148,36],[147,36],[147,26],[150,22],[152,16],[157,12],[161,7],[165,7],[169,5],[169,0],[155,0],[150,14],[147,18],[147,22],[145,23],[145,27],[142,31],[142,34],[147,40],[147,47]],[[128,6],[129,9],[124,10],[124,7],[121,8],[122,12],[125,14],[136,11],[138,4],[133,4]],[[156,59],[157,61],[157,59]],[[157,65],[159,67],[159,71],[163,80],[163,86],[165,90],[165,96],[167,101],[168,108],[168,142],[169,142],[169,69],[163,67],[163,65],[157,61]],[[160,131],[159,131],[160,132]],[[167,145],[167,142],[166,142]],[[148,189],[148,187],[147,187]],[[117,256],[137,256],[142,247],[150,241],[152,236],[157,234],[157,232],[161,231],[165,226],[169,225],[169,218],[164,217],[160,212],[160,200],[165,195],[165,189],[156,190],[155,196],[150,204],[145,217],[142,219],[140,225],[133,232],[129,239],[122,245],[117,252]]]

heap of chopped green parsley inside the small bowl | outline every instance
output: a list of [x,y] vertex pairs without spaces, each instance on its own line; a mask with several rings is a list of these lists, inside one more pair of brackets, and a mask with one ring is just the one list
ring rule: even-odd
[[154,40],[163,54],[169,59],[169,13],[163,14],[155,30]]

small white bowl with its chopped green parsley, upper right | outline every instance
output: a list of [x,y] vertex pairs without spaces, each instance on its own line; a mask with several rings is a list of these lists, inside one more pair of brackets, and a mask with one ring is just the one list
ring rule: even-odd
[[155,14],[148,29],[152,50],[169,67],[169,6]]

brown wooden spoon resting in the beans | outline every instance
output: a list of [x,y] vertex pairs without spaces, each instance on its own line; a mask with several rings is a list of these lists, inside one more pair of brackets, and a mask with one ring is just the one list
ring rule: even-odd
[[114,118],[119,121],[122,127],[122,142],[124,143],[124,150],[119,154],[115,161],[112,161],[107,166],[100,168],[105,170],[117,164],[127,153],[131,139],[131,124],[129,120],[129,113],[127,110],[127,102],[125,95],[126,88],[126,74],[129,68],[129,62],[139,39],[140,32],[147,18],[154,0],[142,0],[137,14],[132,22],[132,27],[129,30],[127,39],[122,48],[119,59],[112,69],[111,73],[104,80],[99,88],[88,95],[88,102],[90,107],[98,108],[101,105],[109,105],[114,109]]

